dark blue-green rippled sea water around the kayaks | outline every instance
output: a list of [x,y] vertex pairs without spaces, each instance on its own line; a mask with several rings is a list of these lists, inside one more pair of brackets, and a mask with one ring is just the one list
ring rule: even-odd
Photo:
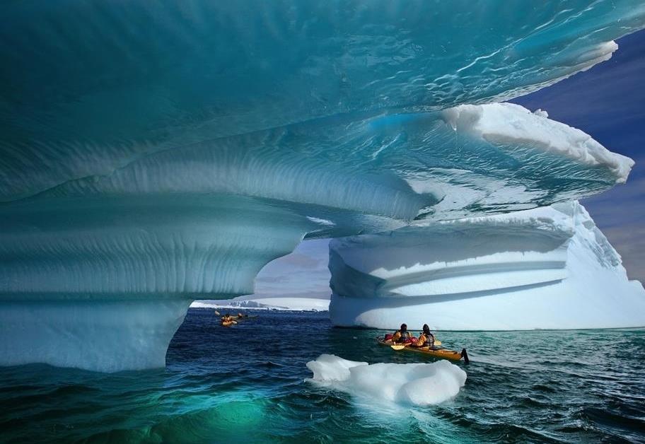
[[306,363],[431,358],[334,328],[327,313],[257,314],[224,328],[191,309],[163,370],[0,368],[0,442],[645,442],[642,329],[438,332],[469,351],[465,387],[409,407],[312,385]]

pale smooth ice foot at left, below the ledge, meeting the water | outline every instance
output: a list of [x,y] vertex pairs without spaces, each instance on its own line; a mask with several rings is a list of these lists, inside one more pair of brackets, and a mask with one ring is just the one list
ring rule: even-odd
[[165,366],[190,300],[15,300],[0,305],[2,365],[113,372]]

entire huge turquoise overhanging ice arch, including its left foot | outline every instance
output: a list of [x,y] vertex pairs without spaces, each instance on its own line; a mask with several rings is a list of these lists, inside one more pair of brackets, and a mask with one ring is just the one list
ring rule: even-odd
[[[632,166],[495,102],[610,58],[644,28],[640,1],[62,0],[0,13],[4,365],[158,366],[187,301],[252,293],[303,238],[579,199]],[[119,328],[139,341],[132,304],[165,326],[139,358],[68,350],[81,317],[96,325],[88,344]],[[59,322],[41,322],[47,308]],[[54,323],[57,356],[18,338]]]

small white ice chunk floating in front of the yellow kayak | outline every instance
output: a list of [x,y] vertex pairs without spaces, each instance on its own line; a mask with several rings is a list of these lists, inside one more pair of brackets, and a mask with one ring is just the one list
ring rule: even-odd
[[448,361],[435,363],[376,363],[347,361],[320,355],[309,361],[308,381],[378,402],[427,406],[457,396],[466,372]]

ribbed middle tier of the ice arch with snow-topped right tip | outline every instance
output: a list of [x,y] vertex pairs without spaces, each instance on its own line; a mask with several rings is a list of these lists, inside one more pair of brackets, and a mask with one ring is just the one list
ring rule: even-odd
[[154,153],[6,202],[0,294],[252,293],[262,266],[304,237],[583,197],[633,163],[511,104],[265,136]]

